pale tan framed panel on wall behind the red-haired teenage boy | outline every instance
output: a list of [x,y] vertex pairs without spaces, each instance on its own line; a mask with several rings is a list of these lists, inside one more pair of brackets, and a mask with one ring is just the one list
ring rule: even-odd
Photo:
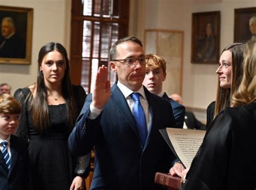
[[145,30],[145,52],[153,53],[166,62],[166,79],[163,91],[182,96],[184,31],[149,29]]

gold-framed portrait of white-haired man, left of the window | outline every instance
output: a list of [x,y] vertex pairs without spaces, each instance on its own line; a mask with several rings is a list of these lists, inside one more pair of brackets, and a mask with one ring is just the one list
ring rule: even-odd
[[31,64],[33,9],[0,6],[0,63]]

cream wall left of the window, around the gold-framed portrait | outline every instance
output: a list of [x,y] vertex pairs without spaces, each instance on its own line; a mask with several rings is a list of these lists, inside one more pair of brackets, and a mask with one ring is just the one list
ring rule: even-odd
[[35,82],[37,56],[46,43],[59,42],[69,50],[71,0],[0,0],[0,5],[33,8],[31,65],[0,64],[0,83],[19,87]]

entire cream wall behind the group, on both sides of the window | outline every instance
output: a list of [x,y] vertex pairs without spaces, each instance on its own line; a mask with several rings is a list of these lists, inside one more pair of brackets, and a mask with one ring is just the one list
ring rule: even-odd
[[[233,42],[234,9],[256,6],[255,0],[130,0],[129,35],[144,40],[145,29],[184,31],[183,99],[189,107],[205,109],[215,99],[217,64],[191,64],[192,12],[221,11],[220,50]],[[37,54],[45,43],[55,41],[70,49],[71,0],[0,0],[0,5],[33,8],[31,65],[0,64],[0,83],[12,93],[35,82]],[[202,119],[205,120],[205,119]]]

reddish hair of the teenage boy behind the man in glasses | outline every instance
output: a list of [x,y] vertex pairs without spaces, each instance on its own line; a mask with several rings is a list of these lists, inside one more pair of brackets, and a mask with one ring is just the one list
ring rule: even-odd
[[149,54],[146,55],[146,57],[149,58],[149,62],[147,62],[146,64],[146,69],[157,69],[159,67],[161,67],[164,71],[164,73],[166,73],[166,62],[163,58],[159,57],[158,55],[154,55],[154,54]]

